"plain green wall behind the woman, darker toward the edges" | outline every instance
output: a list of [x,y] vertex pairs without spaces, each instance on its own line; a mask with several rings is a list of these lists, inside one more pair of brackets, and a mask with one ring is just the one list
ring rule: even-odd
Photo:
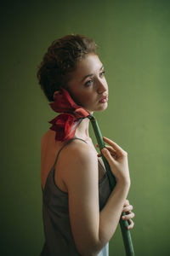
[[[110,95],[95,116],[103,136],[128,153],[135,253],[169,255],[169,22],[165,0],[3,3],[1,255],[37,256],[42,248],[40,141],[55,113],[36,73],[48,46],[68,33],[99,45]],[[124,255],[119,228],[110,255]]]

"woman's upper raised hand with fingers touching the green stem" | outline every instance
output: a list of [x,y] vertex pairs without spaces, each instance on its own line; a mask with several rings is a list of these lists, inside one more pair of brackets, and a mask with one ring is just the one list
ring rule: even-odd
[[[116,177],[116,183],[130,184],[127,152],[109,138],[103,137],[103,139],[109,146],[105,145],[105,148],[101,151],[111,167],[111,172]],[[96,144],[96,146],[99,148],[98,144]],[[101,154],[98,154],[98,156],[100,157]]]

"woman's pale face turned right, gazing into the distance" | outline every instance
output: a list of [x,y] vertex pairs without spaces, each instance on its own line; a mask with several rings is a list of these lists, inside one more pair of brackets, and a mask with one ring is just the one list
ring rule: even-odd
[[77,62],[77,68],[71,74],[68,91],[72,99],[90,113],[107,108],[108,85],[104,73],[98,55],[88,54]]

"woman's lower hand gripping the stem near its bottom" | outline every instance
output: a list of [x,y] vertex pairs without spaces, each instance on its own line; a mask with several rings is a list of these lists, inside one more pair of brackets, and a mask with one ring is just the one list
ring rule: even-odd
[[122,216],[122,220],[127,220],[128,222],[128,226],[127,226],[127,230],[132,230],[133,226],[134,226],[134,222],[132,220],[132,218],[134,218],[134,212],[132,212],[133,210],[133,206],[131,206],[129,204],[129,201],[126,200],[124,202],[123,208],[122,208],[122,212],[125,212],[126,215]]

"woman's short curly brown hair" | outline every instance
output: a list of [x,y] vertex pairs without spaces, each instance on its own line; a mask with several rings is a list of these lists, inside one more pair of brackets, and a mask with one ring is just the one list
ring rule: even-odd
[[97,55],[96,49],[97,44],[92,38],[79,34],[54,40],[37,71],[38,82],[49,102],[54,101],[54,91],[60,87],[67,89],[77,61],[91,53]]

